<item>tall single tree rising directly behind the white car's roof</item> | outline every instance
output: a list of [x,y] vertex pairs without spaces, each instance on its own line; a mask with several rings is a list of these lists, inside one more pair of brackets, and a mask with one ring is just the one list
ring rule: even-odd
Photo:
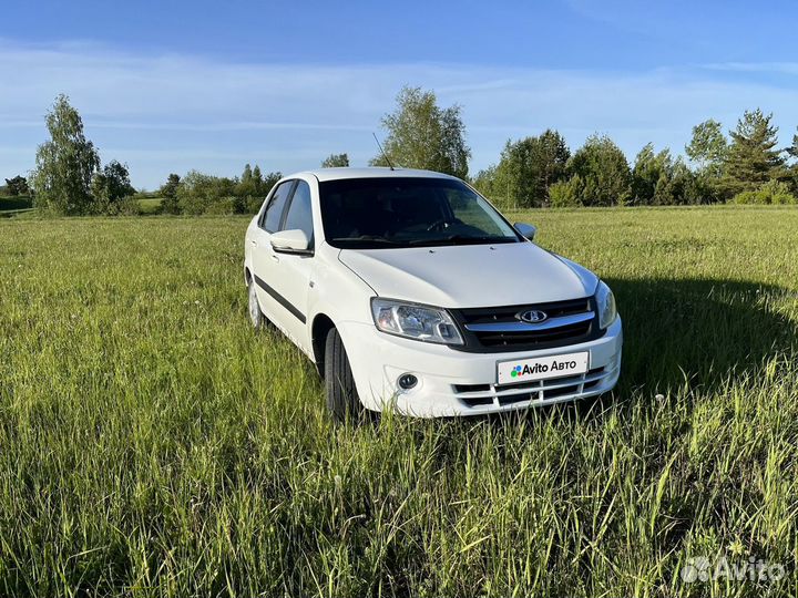
[[[468,176],[471,151],[466,145],[460,106],[440,109],[434,92],[402,87],[396,110],[385,115],[382,126],[388,132],[385,153],[393,166]],[[371,165],[389,164],[380,153]]]

